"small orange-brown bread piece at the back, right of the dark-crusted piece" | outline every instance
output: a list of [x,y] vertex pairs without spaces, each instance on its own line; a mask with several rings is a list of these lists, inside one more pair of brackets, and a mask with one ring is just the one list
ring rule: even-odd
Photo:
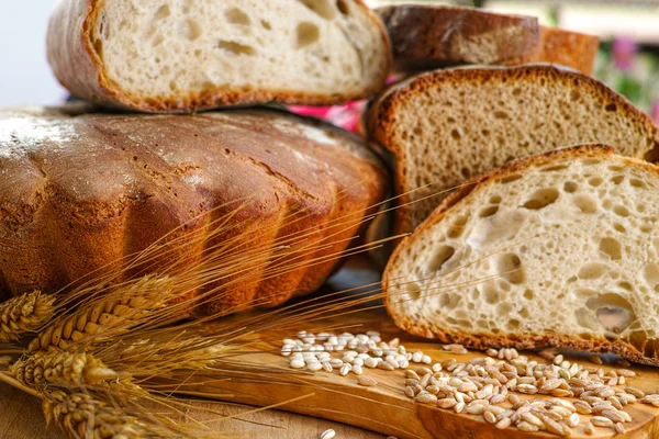
[[540,43],[528,54],[503,64],[551,63],[592,75],[599,46],[596,35],[540,26]]

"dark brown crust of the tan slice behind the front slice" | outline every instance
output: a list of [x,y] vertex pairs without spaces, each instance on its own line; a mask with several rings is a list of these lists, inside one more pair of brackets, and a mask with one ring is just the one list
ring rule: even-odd
[[[394,155],[395,193],[399,198],[399,207],[395,212],[394,233],[403,234],[413,229],[411,185],[405,178],[406,169],[403,158],[403,145],[396,142],[396,114],[410,99],[424,93],[442,83],[482,83],[487,81],[507,81],[513,85],[516,80],[573,81],[582,90],[589,90],[595,97],[601,97],[603,102],[613,102],[617,111],[643,126],[648,133],[654,133],[654,146],[645,151],[645,158],[655,161],[659,158],[659,131],[650,117],[632,105],[622,95],[613,92],[604,83],[577,71],[561,69],[550,65],[524,65],[511,67],[467,67],[431,71],[409,78],[391,86],[370,106],[367,114],[368,134],[370,139],[383,146]],[[511,86],[512,87],[512,86]],[[423,109],[418,109],[422,111]],[[520,151],[523,154],[523,151]],[[644,155],[639,155],[643,158]]]

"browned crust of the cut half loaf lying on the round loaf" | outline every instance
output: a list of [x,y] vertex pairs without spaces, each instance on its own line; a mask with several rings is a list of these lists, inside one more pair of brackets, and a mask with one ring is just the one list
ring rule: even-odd
[[381,21],[362,0],[350,0],[362,13],[371,16],[372,25],[382,35],[388,58],[381,76],[371,88],[359,93],[322,93],[264,89],[258,87],[222,87],[202,93],[185,90],[179,95],[157,98],[129,93],[109,79],[99,48],[94,47],[94,27],[103,0],[63,0],[53,11],[47,32],[48,63],[57,80],[74,95],[116,109],[141,112],[189,113],[223,105],[265,103],[277,101],[288,104],[333,105],[369,98],[384,86],[391,67],[390,42]]

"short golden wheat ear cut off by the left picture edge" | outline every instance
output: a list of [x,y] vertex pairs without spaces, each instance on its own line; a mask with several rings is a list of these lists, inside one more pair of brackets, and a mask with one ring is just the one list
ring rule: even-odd
[[0,341],[37,330],[53,315],[53,302],[54,297],[34,291],[0,303]]

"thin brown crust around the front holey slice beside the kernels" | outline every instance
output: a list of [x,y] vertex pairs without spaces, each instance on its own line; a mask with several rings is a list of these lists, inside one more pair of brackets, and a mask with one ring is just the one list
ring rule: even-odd
[[[415,320],[407,315],[400,314],[396,312],[395,303],[391,301],[388,295],[388,291],[391,288],[391,272],[394,270],[394,266],[398,262],[400,255],[405,251],[407,247],[414,241],[417,236],[426,233],[434,224],[443,221],[445,217],[450,216],[451,209],[457,204],[470,203],[470,195],[477,189],[483,189],[495,181],[500,180],[505,176],[524,172],[527,169],[541,167],[554,162],[556,159],[565,160],[566,158],[606,158],[614,156],[614,148],[604,145],[582,145],[577,147],[570,147],[549,151],[543,155],[533,156],[526,159],[516,160],[507,164],[506,166],[487,172],[482,176],[476,177],[470,181],[466,182],[462,187],[455,190],[448,198],[446,198],[433,212],[426,221],[424,221],[412,234],[405,237],[401,244],[395,248],[382,277],[382,291],[383,301],[387,305],[388,313],[394,319],[396,326],[401,329],[425,338],[437,338],[442,342],[459,342],[466,347],[473,349],[487,349],[489,347],[513,347],[516,349],[532,349],[545,346],[559,346],[570,347],[584,351],[592,352],[614,352],[622,357],[625,357],[632,361],[659,367],[659,359],[648,358],[643,354],[638,349],[627,342],[612,341],[606,338],[584,340],[576,337],[571,334],[550,334],[550,335],[530,335],[530,334],[515,334],[512,336],[480,336],[477,334],[468,334],[460,331],[442,331],[437,329],[436,325],[432,325],[425,320]],[[659,168],[648,162],[625,158],[617,156],[621,160],[626,161],[628,166],[644,168],[659,177]],[[649,342],[654,342],[650,340]],[[659,345],[659,340],[655,342]]]

